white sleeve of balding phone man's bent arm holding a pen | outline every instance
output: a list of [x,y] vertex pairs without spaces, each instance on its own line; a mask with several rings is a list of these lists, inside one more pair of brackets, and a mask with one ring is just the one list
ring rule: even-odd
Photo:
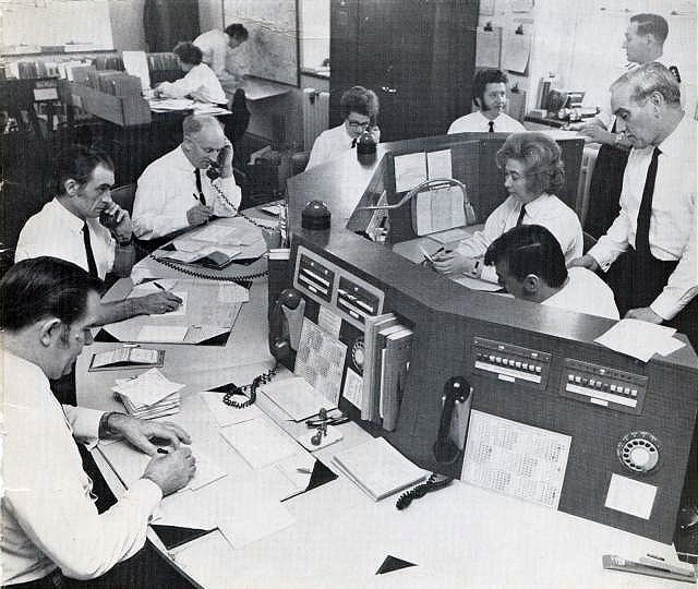
[[[139,239],[155,239],[189,226],[186,211],[168,212],[170,192],[176,189],[165,170],[146,168],[141,175],[133,202],[134,232]],[[192,206],[195,204],[192,199]]]

